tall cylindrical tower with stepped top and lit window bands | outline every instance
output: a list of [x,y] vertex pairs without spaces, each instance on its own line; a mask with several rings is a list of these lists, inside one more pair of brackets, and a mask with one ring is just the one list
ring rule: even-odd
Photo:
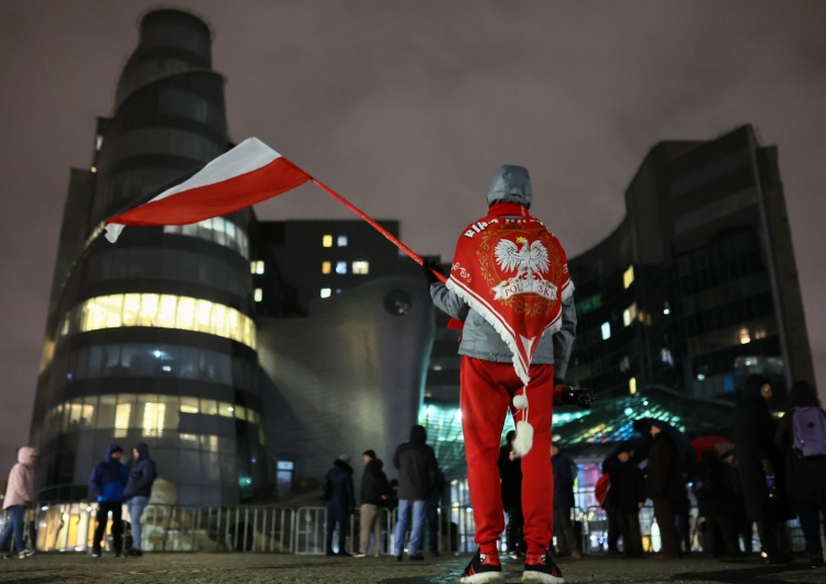
[[85,497],[112,441],[149,443],[181,502],[264,485],[251,212],[90,237],[228,149],[210,35],[188,13],[148,13],[90,169],[73,171],[32,429],[41,499]]

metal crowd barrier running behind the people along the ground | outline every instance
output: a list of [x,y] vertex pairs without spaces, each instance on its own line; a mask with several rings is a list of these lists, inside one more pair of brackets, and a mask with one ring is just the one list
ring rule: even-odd
[[[29,520],[33,529],[28,537],[42,552],[85,552],[91,549],[97,504],[64,502],[43,505],[30,510]],[[129,515],[123,506],[124,545],[131,544]],[[608,552],[608,519],[598,505],[573,509],[575,530],[582,537],[582,551],[586,554]],[[0,528],[4,522],[0,515]],[[381,540],[379,553],[393,553],[398,509],[383,509],[381,513]],[[142,542],[144,551],[151,552],[263,552],[324,554],[326,550],[327,510],[324,507],[196,507],[173,505],[149,505],[143,513]],[[111,549],[110,527],[107,526],[107,547]],[[691,515],[691,548],[703,549],[702,529],[696,508]],[[640,530],[644,551],[659,551],[660,533],[653,517],[653,508],[646,505],[640,512]],[[359,549],[358,513],[348,521],[346,551]],[[472,552],[475,524],[472,509],[453,502],[439,508],[438,551]],[[805,549],[805,540],[796,519],[786,522],[790,547],[798,552]],[[757,537],[752,537],[753,549],[759,550]],[[422,545],[430,551],[427,528]],[[334,551],[337,538],[334,538]],[[376,542],[370,553],[376,553]]]

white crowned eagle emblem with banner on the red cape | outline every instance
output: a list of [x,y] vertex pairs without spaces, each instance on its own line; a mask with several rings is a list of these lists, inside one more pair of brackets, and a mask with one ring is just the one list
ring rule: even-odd
[[[522,245],[520,249],[519,245]],[[539,239],[533,244],[525,237],[518,237],[513,242],[500,239],[493,255],[503,271],[517,270],[517,274],[494,285],[493,300],[513,296],[514,294],[540,294],[550,300],[556,300],[556,286],[542,278],[542,273],[551,270],[551,258],[547,249]]]

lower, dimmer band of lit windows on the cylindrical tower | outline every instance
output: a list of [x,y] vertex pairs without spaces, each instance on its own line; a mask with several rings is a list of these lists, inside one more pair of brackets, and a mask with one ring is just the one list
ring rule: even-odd
[[[261,415],[243,405],[191,397],[134,393],[88,396],[55,405],[45,417],[45,440],[80,429],[111,430],[115,439],[126,437],[129,430],[140,430],[146,437],[170,436],[171,432],[177,433],[182,413],[218,415],[256,424],[263,444]],[[219,436],[182,433],[180,437],[200,442],[203,450],[219,451]]]

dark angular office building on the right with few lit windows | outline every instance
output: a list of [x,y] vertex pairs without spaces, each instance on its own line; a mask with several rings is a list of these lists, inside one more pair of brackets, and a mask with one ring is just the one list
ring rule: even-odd
[[814,378],[776,147],[751,126],[661,142],[626,208],[569,261],[568,381],[606,396],[660,386],[718,398],[760,372],[782,398],[792,380]]

